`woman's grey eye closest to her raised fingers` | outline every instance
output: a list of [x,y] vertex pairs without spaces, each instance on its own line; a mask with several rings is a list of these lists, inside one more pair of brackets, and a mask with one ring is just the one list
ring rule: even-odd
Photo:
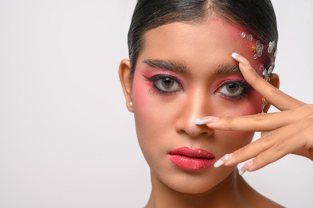
[[223,83],[215,92],[226,97],[237,98],[246,94],[246,92],[250,90],[253,90],[253,88],[247,85],[244,81],[231,80]]

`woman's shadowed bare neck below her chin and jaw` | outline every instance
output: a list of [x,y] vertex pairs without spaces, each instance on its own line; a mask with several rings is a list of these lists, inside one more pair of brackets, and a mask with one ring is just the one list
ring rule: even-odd
[[258,197],[234,169],[220,184],[199,194],[186,194],[170,189],[151,173],[152,192],[145,208],[229,208],[248,207]]

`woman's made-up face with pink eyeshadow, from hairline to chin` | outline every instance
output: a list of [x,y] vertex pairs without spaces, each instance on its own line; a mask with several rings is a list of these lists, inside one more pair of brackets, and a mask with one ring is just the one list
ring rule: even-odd
[[262,111],[261,95],[244,82],[231,58],[232,52],[243,55],[255,69],[262,63],[253,59],[255,40],[249,42],[241,32],[211,15],[201,22],[174,22],[145,33],[132,102],[152,182],[183,193],[203,193],[222,186],[234,170],[211,164],[248,144],[253,132],[211,130],[194,120]]

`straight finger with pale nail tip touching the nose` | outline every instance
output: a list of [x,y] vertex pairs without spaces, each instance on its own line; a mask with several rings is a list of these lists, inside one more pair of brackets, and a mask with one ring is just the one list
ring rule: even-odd
[[207,116],[196,119],[195,123],[206,124],[211,129],[225,131],[264,132],[299,121],[312,112],[313,105],[305,105],[296,109],[275,113],[259,113],[236,117]]

